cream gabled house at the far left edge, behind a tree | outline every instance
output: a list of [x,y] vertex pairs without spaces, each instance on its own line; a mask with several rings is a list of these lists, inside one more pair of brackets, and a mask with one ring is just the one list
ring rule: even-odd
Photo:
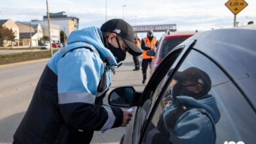
[[13,22],[11,19],[0,20],[0,26],[7,27],[8,29],[12,29],[12,31],[14,32],[14,35],[15,35],[15,38],[14,38],[15,43],[12,43],[11,41],[6,41],[4,46],[18,45],[18,41],[20,39],[20,35],[19,35],[20,32],[19,32],[19,28],[15,24],[15,22]]

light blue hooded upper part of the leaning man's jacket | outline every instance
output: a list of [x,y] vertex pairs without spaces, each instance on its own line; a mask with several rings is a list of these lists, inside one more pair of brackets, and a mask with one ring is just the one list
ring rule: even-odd
[[[98,50],[98,54],[89,48],[78,48],[87,46],[87,43],[93,45]],[[72,52],[68,52],[72,49],[74,49]],[[68,38],[65,52],[68,53],[62,58],[62,50],[58,50],[53,59],[47,63],[50,69],[58,75],[58,94],[89,92],[96,97],[97,87],[104,71],[103,60],[108,60],[110,65],[117,65],[113,54],[102,43],[102,32],[96,27],[73,31]],[[109,87],[111,84],[110,69],[107,73]]]

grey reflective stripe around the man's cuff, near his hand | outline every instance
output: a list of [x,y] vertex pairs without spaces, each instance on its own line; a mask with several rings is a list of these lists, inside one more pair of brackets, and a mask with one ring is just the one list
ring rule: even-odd
[[114,125],[114,122],[116,120],[116,117],[111,109],[111,107],[108,107],[106,105],[103,105],[104,109],[108,112],[108,120],[106,120],[104,126],[101,128],[101,132],[105,132],[106,130],[109,130]]

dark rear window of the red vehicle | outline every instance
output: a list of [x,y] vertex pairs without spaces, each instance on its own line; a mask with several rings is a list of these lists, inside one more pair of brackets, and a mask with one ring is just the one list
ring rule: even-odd
[[187,38],[168,39],[163,41],[160,50],[160,58],[164,58],[175,46],[180,45]]

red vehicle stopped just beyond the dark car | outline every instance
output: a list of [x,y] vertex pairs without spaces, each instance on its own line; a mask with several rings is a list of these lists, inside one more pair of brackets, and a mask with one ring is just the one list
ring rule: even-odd
[[163,58],[173,49],[175,46],[180,45],[183,41],[195,35],[197,32],[170,32],[164,33],[156,48],[156,56],[151,63],[150,75],[154,73],[156,67],[161,63]]

